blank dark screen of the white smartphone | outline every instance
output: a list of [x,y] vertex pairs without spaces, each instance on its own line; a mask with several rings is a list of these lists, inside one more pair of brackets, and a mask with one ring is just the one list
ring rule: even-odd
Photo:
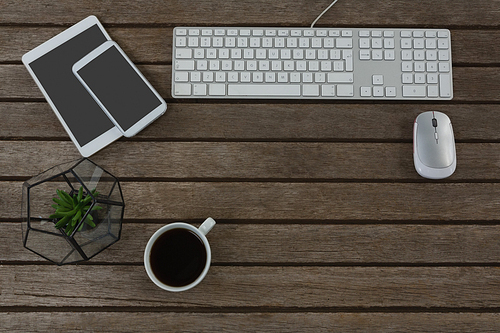
[[79,69],[78,75],[124,131],[162,103],[115,46]]

